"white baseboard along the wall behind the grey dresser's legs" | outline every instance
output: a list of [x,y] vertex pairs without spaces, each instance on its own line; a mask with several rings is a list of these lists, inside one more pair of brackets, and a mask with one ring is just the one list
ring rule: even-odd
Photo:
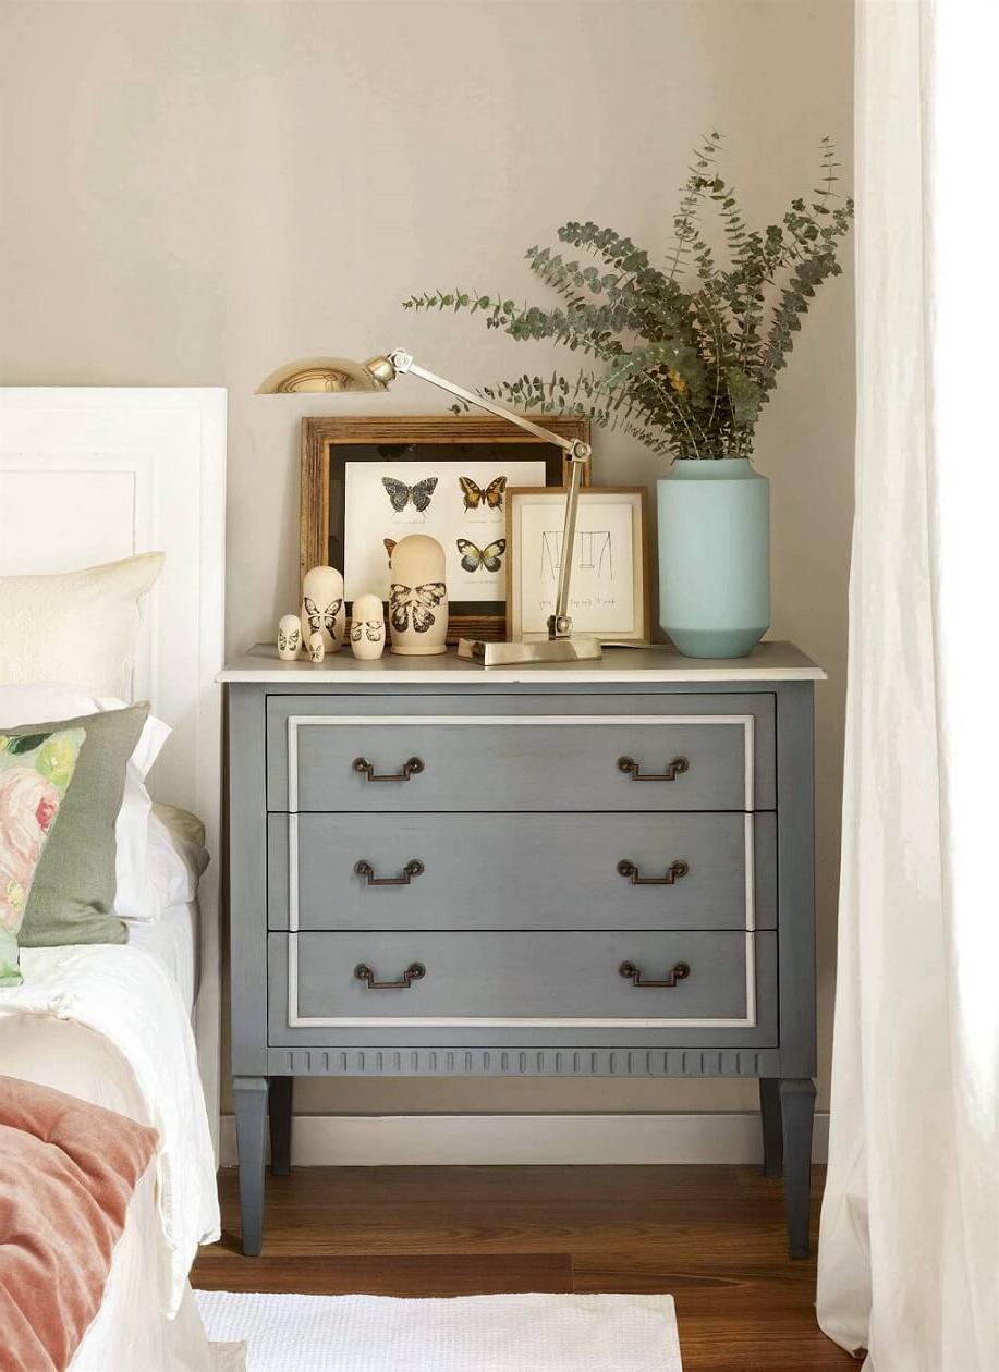
[[[815,1117],[812,1161],[825,1162],[829,1115]],[[762,1162],[756,1113],[619,1115],[296,1115],[299,1168],[537,1166]],[[236,1129],[222,1117],[222,1166]]]

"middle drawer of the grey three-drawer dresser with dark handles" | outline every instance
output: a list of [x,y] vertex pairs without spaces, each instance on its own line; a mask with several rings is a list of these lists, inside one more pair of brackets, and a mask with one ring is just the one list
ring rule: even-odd
[[272,814],[270,929],[773,929],[774,814]]

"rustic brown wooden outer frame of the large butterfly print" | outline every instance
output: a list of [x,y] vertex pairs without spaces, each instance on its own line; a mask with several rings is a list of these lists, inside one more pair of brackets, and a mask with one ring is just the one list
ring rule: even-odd
[[[583,417],[532,414],[531,418],[560,438],[590,442],[590,421]],[[331,464],[338,446],[358,445],[537,445],[538,458],[546,462],[548,479],[565,482],[564,454],[556,445],[545,443],[515,428],[506,420],[489,414],[372,414],[306,417],[302,420],[302,466],[299,488],[299,594],[302,580],[310,567],[329,558],[331,536]],[[446,457],[442,453],[442,457]],[[457,461],[457,458],[456,458]],[[343,482],[343,473],[339,473]],[[590,483],[590,465],[583,473],[583,484]],[[538,490],[560,488],[554,486]],[[458,638],[501,639],[505,632],[505,606],[500,602],[494,613],[453,613],[449,620],[447,642]]]

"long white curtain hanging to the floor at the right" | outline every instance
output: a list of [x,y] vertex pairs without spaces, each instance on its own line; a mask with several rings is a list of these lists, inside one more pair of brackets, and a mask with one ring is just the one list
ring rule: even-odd
[[999,3],[856,11],[858,431],[818,1314],[999,1369]]

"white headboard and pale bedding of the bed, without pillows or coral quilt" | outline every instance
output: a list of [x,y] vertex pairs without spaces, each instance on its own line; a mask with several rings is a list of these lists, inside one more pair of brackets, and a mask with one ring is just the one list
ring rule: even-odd
[[[73,1372],[214,1367],[187,1275],[198,1242],[218,1233],[224,502],[224,391],[0,388],[0,575],[167,554],[130,698],[173,729],[150,778],[154,799],[178,807],[156,808],[161,852],[180,858],[187,840],[189,855],[189,812],[213,859],[196,896],[130,925],[128,944],[25,948],[25,985],[0,993],[4,1074],[161,1133]],[[10,513],[26,504],[45,510],[43,552]]]

